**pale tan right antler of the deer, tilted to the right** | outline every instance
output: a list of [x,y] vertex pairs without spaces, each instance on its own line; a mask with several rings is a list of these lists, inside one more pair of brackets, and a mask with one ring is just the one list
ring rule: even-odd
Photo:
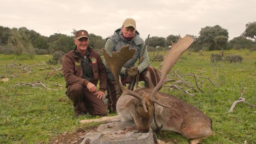
[[189,46],[193,43],[193,41],[194,41],[194,39],[192,37],[190,37],[189,35],[186,35],[184,38],[181,38],[179,35],[178,42],[172,43],[171,49],[164,56],[163,69],[161,70],[162,77],[160,79],[160,82],[157,84],[157,86],[154,88],[152,94],[150,95],[150,99],[154,99],[154,101],[155,101],[154,95],[159,90],[159,88],[161,88],[161,86],[164,83],[171,81],[166,78],[168,72],[172,69],[172,67],[177,62],[179,57],[184,53],[184,51],[186,51],[189,48]]

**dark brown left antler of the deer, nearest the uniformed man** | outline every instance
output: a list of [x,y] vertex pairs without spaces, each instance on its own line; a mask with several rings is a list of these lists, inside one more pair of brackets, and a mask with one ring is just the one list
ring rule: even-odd
[[105,60],[108,64],[109,70],[112,72],[112,74],[115,77],[115,81],[116,81],[118,87],[122,90],[122,92],[123,92],[122,94],[123,95],[131,95],[131,96],[137,98],[141,102],[145,112],[147,112],[145,100],[140,95],[138,95],[138,94],[134,93],[133,91],[128,90],[127,88],[125,88],[122,85],[122,83],[120,81],[120,78],[119,78],[122,66],[127,61],[129,61],[131,58],[133,58],[133,55],[136,51],[135,49],[129,49],[129,46],[130,45],[122,47],[120,49],[120,51],[112,52],[112,57],[109,56],[109,54],[107,54],[105,49],[102,49],[103,56],[104,56],[104,58],[105,58]]

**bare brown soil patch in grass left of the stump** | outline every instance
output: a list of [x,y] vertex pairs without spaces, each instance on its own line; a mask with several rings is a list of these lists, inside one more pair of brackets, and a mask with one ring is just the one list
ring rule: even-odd
[[55,138],[53,138],[50,141],[50,144],[80,144],[83,139],[81,139],[81,136],[87,134],[91,130],[96,131],[98,126],[95,126],[91,129],[83,129],[78,128],[76,131],[72,132],[64,132],[63,134],[59,134]]

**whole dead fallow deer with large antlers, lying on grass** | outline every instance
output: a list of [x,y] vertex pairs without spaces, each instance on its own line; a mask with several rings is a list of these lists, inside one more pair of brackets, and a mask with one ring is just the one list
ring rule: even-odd
[[[81,120],[80,122],[111,122],[117,120],[135,122],[141,132],[148,132],[149,127],[157,130],[175,131],[191,139],[191,144],[199,143],[202,139],[214,135],[211,118],[202,111],[175,96],[158,92],[164,83],[173,81],[173,79],[167,79],[167,74],[193,41],[193,38],[186,35],[184,38],[179,36],[178,42],[172,43],[172,48],[164,56],[161,80],[154,90],[139,88],[131,91],[122,86],[120,82],[121,68],[133,57],[135,49],[129,49],[129,45],[127,45],[122,47],[120,51],[113,52],[112,56],[109,56],[106,50],[102,49],[109,69],[122,90],[122,96],[118,99],[116,105],[118,115]],[[157,124],[161,124],[161,127],[159,128]]]

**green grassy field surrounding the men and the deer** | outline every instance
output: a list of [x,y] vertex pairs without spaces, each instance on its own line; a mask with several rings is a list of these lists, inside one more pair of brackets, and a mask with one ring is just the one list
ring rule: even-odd
[[[194,73],[213,80],[216,88],[207,79],[202,79],[202,90],[205,93],[195,93],[191,97],[184,91],[168,90],[163,87],[161,91],[175,95],[189,104],[204,111],[213,120],[215,136],[202,141],[210,143],[244,143],[256,144],[256,108],[245,103],[239,103],[232,113],[229,111],[232,103],[246,87],[244,96],[247,102],[256,105],[256,51],[229,50],[225,54],[242,55],[242,63],[210,61],[211,53],[219,51],[204,51],[193,53],[186,51],[178,60],[173,70],[179,70],[180,74]],[[33,65],[32,72],[12,68],[9,65],[17,61],[13,55],[0,55],[0,76],[18,74],[8,77],[9,81],[0,82],[0,143],[50,143],[54,137],[64,132],[74,131],[79,128],[90,129],[99,123],[79,124],[82,119],[91,119],[91,115],[75,118],[72,102],[65,95],[65,81],[61,71],[52,71],[39,61],[48,61],[51,56],[35,56],[33,60],[25,56],[16,56],[19,63]],[[39,60],[39,61],[38,61]],[[153,62],[153,67],[158,67],[161,62]],[[37,65],[40,64],[40,65]],[[56,66],[52,66],[56,67]],[[58,65],[60,67],[60,65]],[[172,77],[173,79],[176,77]],[[193,78],[188,77],[191,83]],[[15,84],[38,83],[47,85],[47,90],[42,86],[17,86]],[[60,86],[55,86],[54,83]],[[111,114],[116,115],[116,113]],[[182,135],[163,131],[158,134],[162,140],[170,140],[173,143],[188,143],[189,140]]]

